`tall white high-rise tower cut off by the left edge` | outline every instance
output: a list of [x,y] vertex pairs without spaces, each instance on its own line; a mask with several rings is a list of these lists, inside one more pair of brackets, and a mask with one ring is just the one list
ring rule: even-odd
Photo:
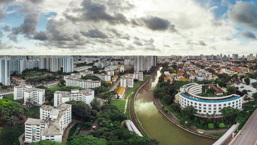
[[10,58],[0,58],[0,82],[10,85]]

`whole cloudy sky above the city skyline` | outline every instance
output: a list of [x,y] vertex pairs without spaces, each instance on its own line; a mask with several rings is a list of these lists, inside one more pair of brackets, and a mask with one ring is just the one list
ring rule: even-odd
[[0,55],[248,55],[257,1],[0,0]]

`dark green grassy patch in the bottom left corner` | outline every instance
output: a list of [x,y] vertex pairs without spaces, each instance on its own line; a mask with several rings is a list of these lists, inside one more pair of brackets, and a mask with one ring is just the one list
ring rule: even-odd
[[0,144],[20,144],[19,136],[25,131],[25,125],[19,124],[13,127],[0,127]]

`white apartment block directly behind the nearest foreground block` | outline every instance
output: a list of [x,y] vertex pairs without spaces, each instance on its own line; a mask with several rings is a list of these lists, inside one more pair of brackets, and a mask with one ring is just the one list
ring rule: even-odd
[[73,89],[70,92],[68,91],[56,91],[54,92],[54,107],[60,105],[60,103],[65,103],[66,101],[77,100],[83,101],[90,106],[91,101],[93,101],[95,97],[95,91],[86,89],[86,90],[78,90]]

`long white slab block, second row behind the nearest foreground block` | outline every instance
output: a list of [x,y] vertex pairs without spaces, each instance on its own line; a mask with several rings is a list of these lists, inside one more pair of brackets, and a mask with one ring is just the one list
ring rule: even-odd
[[[79,76],[80,78],[80,76]],[[78,86],[83,89],[96,88],[101,86],[101,81],[91,79],[79,79],[78,76],[66,75],[64,76],[66,86]]]

